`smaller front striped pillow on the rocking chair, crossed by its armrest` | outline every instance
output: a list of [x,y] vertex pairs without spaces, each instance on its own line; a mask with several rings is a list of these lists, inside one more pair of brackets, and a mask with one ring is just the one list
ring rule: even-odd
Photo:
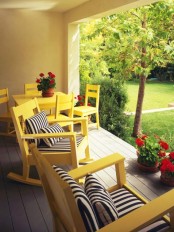
[[[60,133],[60,132],[64,132],[64,129],[57,123],[40,129],[40,133]],[[59,142],[60,139],[62,138],[61,137],[44,138],[43,141],[46,143],[46,145],[52,147],[54,144]]]

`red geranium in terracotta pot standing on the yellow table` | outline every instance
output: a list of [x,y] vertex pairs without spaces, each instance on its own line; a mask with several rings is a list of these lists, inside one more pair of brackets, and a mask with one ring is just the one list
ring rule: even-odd
[[54,88],[56,87],[55,74],[48,72],[48,76],[45,77],[44,73],[39,74],[39,78],[36,78],[38,91],[42,91],[43,97],[52,97],[54,95]]

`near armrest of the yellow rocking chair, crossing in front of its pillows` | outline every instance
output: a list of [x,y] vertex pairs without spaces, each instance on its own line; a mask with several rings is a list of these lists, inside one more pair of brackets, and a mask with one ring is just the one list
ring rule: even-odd
[[39,138],[55,138],[55,137],[76,137],[75,132],[60,132],[60,133],[40,133],[40,134],[23,134],[22,139],[39,139]]

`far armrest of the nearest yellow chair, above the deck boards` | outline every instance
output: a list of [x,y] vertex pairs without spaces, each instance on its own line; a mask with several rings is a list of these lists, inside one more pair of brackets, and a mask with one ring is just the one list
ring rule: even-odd
[[114,153],[107,157],[96,160],[92,163],[89,163],[85,166],[81,166],[79,168],[73,169],[69,171],[69,175],[71,175],[74,179],[80,179],[85,177],[88,173],[95,173],[99,170],[107,168],[109,166],[115,165],[119,170],[120,167],[124,168],[124,157],[118,153]]

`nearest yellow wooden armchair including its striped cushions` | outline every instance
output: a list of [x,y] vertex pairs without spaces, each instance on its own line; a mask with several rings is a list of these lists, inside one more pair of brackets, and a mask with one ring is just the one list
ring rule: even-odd
[[[51,166],[35,145],[30,146],[52,211],[55,231],[146,232],[150,228],[153,228],[152,231],[156,232],[174,231],[174,190],[147,202],[127,184],[124,158],[120,154],[109,155],[66,173],[61,168]],[[108,190],[103,187],[100,188],[101,184],[93,173],[113,165],[115,167],[115,185]],[[85,176],[85,181],[88,179],[88,182],[85,183],[83,190],[75,180]],[[98,186],[98,188],[95,186]],[[95,191],[98,194],[96,202]],[[89,193],[91,198],[88,195]],[[118,218],[112,219],[110,223],[105,223],[105,226],[102,228],[100,226],[99,229],[98,223],[100,220],[94,203],[97,203],[98,207],[100,204],[104,206],[108,199],[111,203],[114,203],[114,210],[117,210]],[[89,202],[92,203],[93,207]],[[112,204],[110,206],[113,207]],[[100,216],[104,214],[101,220],[108,220],[106,211],[100,211],[99,209],[99,213]],[[169,213],[170,220],[165,215],[166,213]]]

